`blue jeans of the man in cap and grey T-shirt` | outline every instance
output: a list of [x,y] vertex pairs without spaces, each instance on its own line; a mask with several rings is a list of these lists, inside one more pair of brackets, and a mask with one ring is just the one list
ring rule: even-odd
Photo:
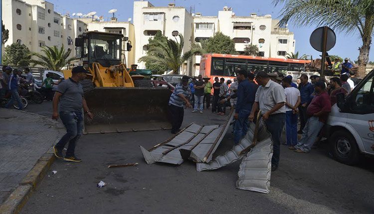
[[69,143],[66,157],[74,156],[75,145],[83,133],[83,115],[81,111],[60,111],[60,118],[66,128],[66,134],[56,144],[62,150]]

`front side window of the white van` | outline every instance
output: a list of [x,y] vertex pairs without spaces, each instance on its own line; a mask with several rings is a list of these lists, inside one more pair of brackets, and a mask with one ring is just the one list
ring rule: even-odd
[[374,76],[353,95],[351,109],[359,114],[374,112]]

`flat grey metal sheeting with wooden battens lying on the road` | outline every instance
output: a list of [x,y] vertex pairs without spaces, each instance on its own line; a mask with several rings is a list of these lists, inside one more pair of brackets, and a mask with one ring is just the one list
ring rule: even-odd
[[181,165],[187,159],[196,163],[208,163],[227,132],[233,115],[231,111],[229,119],[222,126],[191,123],[178,134],[150,150],[140,146],[144,159],[148,164],[163,162]]

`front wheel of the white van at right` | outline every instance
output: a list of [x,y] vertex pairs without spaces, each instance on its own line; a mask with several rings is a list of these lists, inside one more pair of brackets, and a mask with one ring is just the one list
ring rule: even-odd
[[333,157],[344,164],[355,165],[360,162],[360,151],[355,138],[345,130],[335,131],[330,137]]

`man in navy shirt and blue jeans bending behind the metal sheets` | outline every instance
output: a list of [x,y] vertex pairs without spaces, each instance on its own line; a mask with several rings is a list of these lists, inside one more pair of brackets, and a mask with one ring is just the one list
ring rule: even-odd
[[[249,75],[252,76],[251,79],[253,80],[254,75],[252,73]],[[240,70],[238,72],[237,79],[239,81],[239,86],[237,89],[237,101],[234,114],[235,144],[238,144],[248,131],[248,116],[251,113],[257,91],[257,85],[254,82],[249,82],[247,77],[247,71]]]

